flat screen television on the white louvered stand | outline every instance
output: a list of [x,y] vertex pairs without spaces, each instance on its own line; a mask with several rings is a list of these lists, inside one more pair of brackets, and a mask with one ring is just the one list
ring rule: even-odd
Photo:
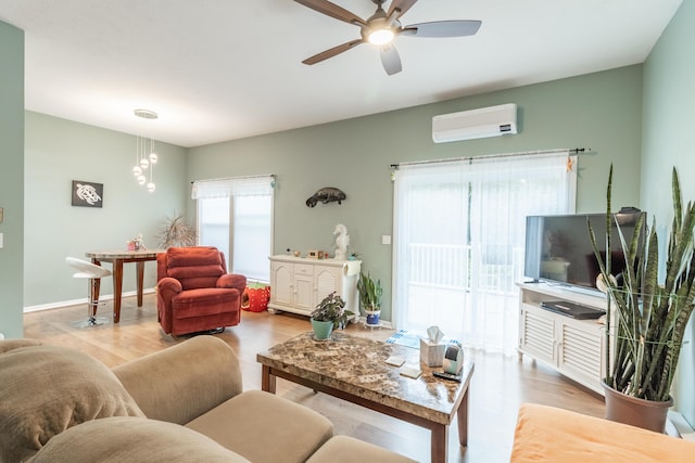
[[[626,241],[630,242],[641,214],[646,213],[632,207],[614,214],[616,220],[611,232],[611,273],[615,275],[626,268],[617,223],[620,223]],[[525,275],[533,282],[598,291],[596,276],[599,269],[589,237],[587,219],[594,229],[596,245],[605,256],[605,214],[527,217]],[[646,220],[643,220],[644,227]],[[642,236],[645,236],[644,230]]]

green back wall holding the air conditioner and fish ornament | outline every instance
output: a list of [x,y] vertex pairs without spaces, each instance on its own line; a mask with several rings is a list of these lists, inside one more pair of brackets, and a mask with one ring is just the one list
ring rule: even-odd
[[[519,105],[517,136],[434,144],[432,116],[502,103]],[[332,231],[344,223],[349,250],[384,282],[382,317],[391,320],[393,185],[390,165],[494,153],[591,147],[581,156],[577,208],[602,211],[610,163],[617,173],[616,205],[639,206],[642,66],[630,66],[438,104],[189,149],[188,180],[277,175],[275,253],[334,248]],[[338,205],[305,206],[321,187],[343,190]],[[194,203],[189,202],[189,210]]]

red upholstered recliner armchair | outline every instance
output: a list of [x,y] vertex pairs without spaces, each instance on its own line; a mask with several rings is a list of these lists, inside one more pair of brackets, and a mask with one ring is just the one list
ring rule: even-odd
[[247,278],[227,273],[216,247],[169,247],[156,256],[156,310],[175,336],[233,326],[241,320]]

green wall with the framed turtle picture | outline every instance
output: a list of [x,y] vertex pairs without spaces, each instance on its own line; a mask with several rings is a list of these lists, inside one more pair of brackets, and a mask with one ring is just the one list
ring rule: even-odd
[[[135,136],[26,112],[25,307],[87,297],[87,283],[72,278],[66,256],[86,259],[87,250],[125,249],[140,233],[148,247],[156,247],[164,219],[186,207],[186,150],[160,142],[155,150],[156,190],[150,193],[131,173]],[[103,183],[103,207],[72,206],[73,180]],[[149,262],[144,287],[155,282]],[[135,291],[134,265],[124,266],[123,291]],[[111,279],[102,281],[101,293],[113,294]]]

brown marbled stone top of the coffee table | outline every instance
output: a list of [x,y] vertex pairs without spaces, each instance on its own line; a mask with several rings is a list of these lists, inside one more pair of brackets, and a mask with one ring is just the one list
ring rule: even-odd
[[[401,366],[419,368],[417,380],[400,374],[401,368],[384,361],[405,359]],[[312,332],[270,347],[256,356],[267,366],[392,407],[431,422],[450,424],[467,390],[475,369],[465,361],[460,383],[432,375],[441,368],[420,363],[419,349],[333,332],[328,340],[316,340]]]

